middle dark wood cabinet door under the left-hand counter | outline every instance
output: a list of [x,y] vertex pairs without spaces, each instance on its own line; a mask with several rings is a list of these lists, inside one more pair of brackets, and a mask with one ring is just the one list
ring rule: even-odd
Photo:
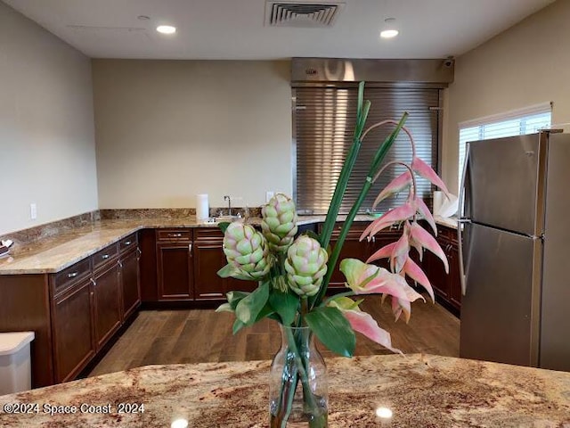
[[120,265],[113,262],[94,275],[94,325],[97,350],[117,332],[122,321]]

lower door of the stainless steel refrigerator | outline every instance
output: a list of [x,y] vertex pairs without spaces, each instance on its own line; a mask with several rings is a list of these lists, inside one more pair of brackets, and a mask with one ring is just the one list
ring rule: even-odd
[[460,357],[536,366],[542,241],[477,224],[464,235]]

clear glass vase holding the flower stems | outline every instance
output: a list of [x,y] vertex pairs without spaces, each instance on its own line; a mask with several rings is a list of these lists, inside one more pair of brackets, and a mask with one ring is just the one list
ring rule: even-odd
[[271,428],[328,426],[327,366],[309,327],[281,327],[269,378]]

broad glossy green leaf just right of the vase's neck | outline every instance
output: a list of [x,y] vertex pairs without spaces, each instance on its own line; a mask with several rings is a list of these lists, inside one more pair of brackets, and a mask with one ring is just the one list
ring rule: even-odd
[[340,310],[315,308],[305,315],[305,321],[324,346],[343,357],[354,355],[356,336]]

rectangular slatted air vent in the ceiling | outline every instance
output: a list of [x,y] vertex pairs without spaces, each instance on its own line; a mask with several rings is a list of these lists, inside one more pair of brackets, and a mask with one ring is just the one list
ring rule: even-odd
[[314,29],[332,27],[344,3],[265,2],[265,25]]

